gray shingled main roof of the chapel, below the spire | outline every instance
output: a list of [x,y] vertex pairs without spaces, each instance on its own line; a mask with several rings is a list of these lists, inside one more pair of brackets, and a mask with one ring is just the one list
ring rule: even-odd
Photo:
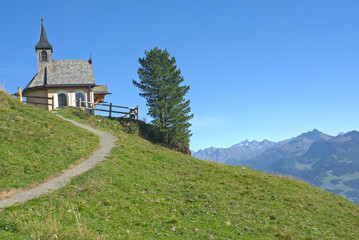
[[89,60],[52,60],[50,65],[35,75],[24,92],[32,88],[62,86],[95,86]]

